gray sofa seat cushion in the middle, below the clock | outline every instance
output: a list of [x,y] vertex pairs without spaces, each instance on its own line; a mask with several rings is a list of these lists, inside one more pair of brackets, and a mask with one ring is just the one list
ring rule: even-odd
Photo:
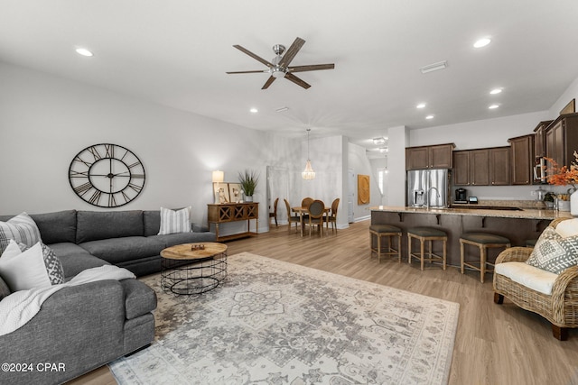
[[164,243],[153,237],[127,236],[80,243],[79,246],[95,257],[117,264],[159,255]]

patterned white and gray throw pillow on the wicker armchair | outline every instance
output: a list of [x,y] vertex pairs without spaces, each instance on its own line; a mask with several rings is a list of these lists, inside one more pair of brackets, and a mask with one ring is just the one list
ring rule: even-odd
[[555,274],[578,264],[578,235],[563,238],[552,227],[546,227],[526,263]]

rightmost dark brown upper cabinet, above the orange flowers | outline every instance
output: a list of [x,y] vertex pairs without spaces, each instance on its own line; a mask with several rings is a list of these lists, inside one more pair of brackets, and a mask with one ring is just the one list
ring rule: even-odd
[[574,151],[578,151],[578,114],[560,115],[545,128],[545,156],[559,166],[570,166]]

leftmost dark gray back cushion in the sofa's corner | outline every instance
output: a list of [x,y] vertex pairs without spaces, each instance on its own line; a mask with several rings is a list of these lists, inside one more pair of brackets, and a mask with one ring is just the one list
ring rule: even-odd
[[42,236],[42,243],[75,242],[76,210],[30,215]]

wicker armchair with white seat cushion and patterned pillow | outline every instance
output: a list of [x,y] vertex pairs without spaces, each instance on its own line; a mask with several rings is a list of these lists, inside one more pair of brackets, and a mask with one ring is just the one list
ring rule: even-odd
[[[568,222],[564,227],[575,229],[578,219],[571,221],[575,224]],[[544,316],[552,323],[555,338],[564,341],[568,328],[578,327],[578,257],[574,252],[578,235],[554,234],[552,230],[561,223],[553,221],[540,235],[535,249],[512,247],[501,252],[493,285],[495,303],[502,304],[506,297],[518,307]],[[544,267],[534,266],[536,263]]]

